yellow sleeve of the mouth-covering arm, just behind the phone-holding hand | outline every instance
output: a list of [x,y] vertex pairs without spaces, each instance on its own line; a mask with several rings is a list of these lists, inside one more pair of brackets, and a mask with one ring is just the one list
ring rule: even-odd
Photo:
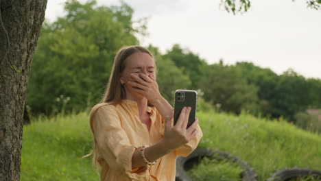
[[175,150],[176,156],[189,156],[193,150],[198,147],[198,143],[200,143],[200,139],[203,136],[203,132],[200,129],[200,125],[196,127],[198,130],[198,133],[189,141],[189,143],[186,143],[185,145],[182,145],[181,147],[178,147]]

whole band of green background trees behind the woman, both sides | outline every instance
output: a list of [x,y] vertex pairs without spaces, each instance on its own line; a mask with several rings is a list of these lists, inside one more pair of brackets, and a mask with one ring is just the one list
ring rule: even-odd
[[[38,41],[27,93],[27,105],[34,112],[96,104],[117,50],[139,44],[136,34],[145,34],[144,23],[134,27],[133,10],[126,3],[106,7],[70,0],[65,10],[66,16],[43,25]],[[160,93],[171,104],[176,89],[188,88],[201,90],[202,101],[220,111],[235,114],[246,110],[294,121],[297,112],[321,108],[320,79],[306,79],[292,70],[277,75],[250,62],[207,64],[178,44],[165,54],[152,45],[147,48],[156,60]]]

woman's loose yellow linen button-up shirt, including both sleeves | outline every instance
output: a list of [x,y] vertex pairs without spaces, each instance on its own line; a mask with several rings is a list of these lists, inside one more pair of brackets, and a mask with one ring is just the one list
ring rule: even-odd
[[187,144],[156,160],[152,166],[132,170],[132,154],[141,146],[158,143],[164,135],[165,119],[154,106],[148,106],[150,131],[139,119],[136,101],[123,99],[120,104],[97,104],[92,110],[91,130],[97,143],[97,161],[102,166],[101,181],[175,180],[176,156],[188,156],[202,138],[198,134]]

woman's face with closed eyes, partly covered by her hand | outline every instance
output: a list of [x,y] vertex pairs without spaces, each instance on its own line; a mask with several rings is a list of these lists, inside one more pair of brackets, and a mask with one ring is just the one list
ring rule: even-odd
[[126,96],[133,96],[134,99],[141,99],[143,95],[137,93],[135,91],[136,88],[128,84],[128,81],[136,82],[132,75],[139,77],[139,73],[143,73],[152,80],[156,80],[154,59],[148,53],[140,51],[133,53],[126,59],[126,66],[120,77],[121,84],[123,84],[126,90]]

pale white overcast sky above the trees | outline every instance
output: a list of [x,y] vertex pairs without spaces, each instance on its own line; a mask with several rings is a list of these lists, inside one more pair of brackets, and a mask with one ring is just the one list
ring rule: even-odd
[[[64,2],[49,0],[46,19],[63,16]],[[117,0],[97,2],[119,5]],[[321,10],[307,8],[305,1],[252,0],[249,12],[236,16],[219,8],[219,0],[125,2],[134,9],[134,20],[150,17],[149,35],[140,37],[141,45],[165,53],[178,43],[210,64],[220,58],[226,64],[247,61],[276,73],[291,68],[321,78]]]

